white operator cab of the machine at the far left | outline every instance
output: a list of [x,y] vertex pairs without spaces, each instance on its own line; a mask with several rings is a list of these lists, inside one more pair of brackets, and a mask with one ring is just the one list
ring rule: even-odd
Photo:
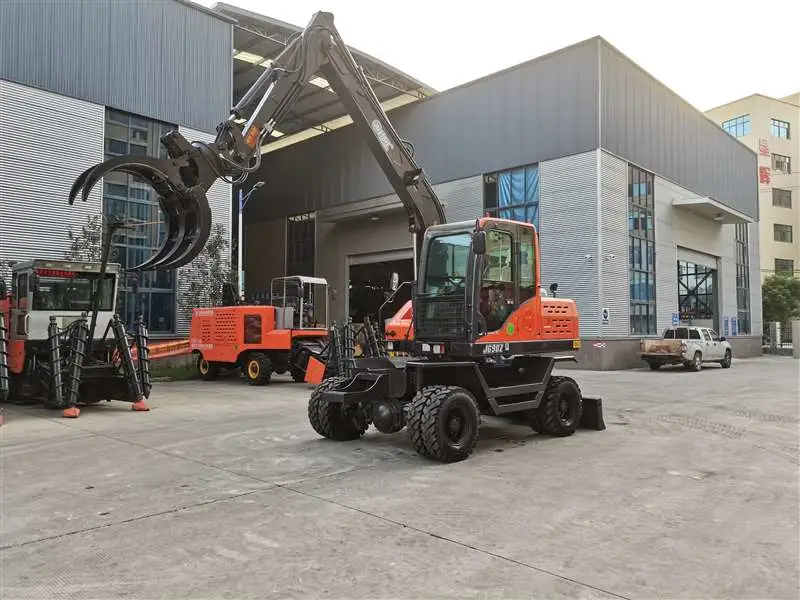
[[89,314],[100,285],[98,322],[114,314],[120,265],[106,265],[100,285],[100,263],[31,260],[16,263],[11,272],[12,339],[46,340],[50,316],[59,328]]

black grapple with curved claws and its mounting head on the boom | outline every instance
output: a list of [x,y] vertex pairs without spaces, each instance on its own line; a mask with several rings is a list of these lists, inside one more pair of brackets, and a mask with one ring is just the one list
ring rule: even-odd
[[[108,173],[127,173],[149,183],[159,195],[166,237],[161,247],[131,271],[177,269],[200,254],[211,234],[211,207],[206,192],[222,165],[209,145],[190,144],[177,131],[161,138],[170,158],[115,156],[81,173],[69,192],[70,205],[80,195],[85,202],[95,185]],[[212,145],[213,146],[213,145]]]

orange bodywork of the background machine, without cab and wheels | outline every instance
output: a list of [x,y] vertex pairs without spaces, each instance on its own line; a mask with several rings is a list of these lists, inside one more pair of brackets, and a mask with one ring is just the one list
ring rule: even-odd
[[233,363],[250,350],[289,351],[302,337],[326,337],[327,330],[276,329],[274,306],[195,308],[189,346],[206,360]]

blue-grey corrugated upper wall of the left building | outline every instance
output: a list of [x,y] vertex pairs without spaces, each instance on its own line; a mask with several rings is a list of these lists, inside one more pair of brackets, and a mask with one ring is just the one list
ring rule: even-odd
[[214,131],[232,40],[230,23],[175,0],[0,2],[0,79]]

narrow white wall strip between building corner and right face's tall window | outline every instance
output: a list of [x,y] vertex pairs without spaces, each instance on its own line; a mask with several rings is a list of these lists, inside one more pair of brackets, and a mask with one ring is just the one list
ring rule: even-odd
[[[628,337],[630,324],[630,261],[628,243],[628,165],[607,152],[600,155],[600,317],[601,337]],[[658,235],[658,230],[656,230]],[[589,317],[591,318],[591,316]]]

